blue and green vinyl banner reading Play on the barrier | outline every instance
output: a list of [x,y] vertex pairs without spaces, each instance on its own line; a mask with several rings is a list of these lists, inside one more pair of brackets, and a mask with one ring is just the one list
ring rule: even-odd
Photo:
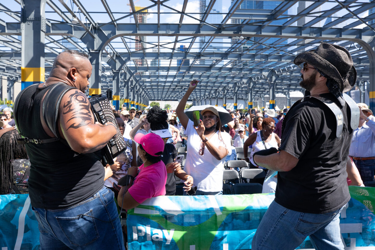
[[[375,250],[375,188],[349,187],[340,228],[347,250]],[[129,250],[251,249],[274,194],[159,196],[128,211]],[[281,247],[282,249],[282,247]],[[297,249],[314,249],[309,238]]]

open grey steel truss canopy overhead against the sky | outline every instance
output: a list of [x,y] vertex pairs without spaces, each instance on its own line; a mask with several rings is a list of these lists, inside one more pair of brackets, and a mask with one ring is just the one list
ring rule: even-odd
[[[120,98],[191,100],[302,91],[297,54],[320,42],[347,48],[357,85],[375,97],[375,1],[24,0],[44,1],[44,69],[75,49],[93,64],[91,89]],[[0,74],[21,79],[23,6],[0,3]],[[43,19],[43,18],[42,18]],[[37,43],[37,40],[28,41]],[[91,93],[91,92],[90,92]],[[92,92],[94,93],[94,92]],[[228,94],[228,95],[227,95]],[[370,106],[374,110],[371,103]]]

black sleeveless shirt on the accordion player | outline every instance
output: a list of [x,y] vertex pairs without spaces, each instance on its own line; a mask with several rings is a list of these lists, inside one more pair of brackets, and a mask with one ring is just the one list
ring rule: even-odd
[[[52,85],[44,88],[32,85],[18,97],[14,118],[21,135],[32,139],[51,138],[43,130],[40,105]],[[73,151],[66,141],[27,143],[26,151],[30,158],[28,189],[33,207],[67,208],[88,199],[104,186],[102,163]]]

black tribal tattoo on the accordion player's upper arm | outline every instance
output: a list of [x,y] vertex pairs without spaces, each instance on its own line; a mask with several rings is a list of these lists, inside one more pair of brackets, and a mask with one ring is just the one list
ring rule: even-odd
[[89,125],[93,120],[90,113],[89,99],[81,91],[76,90],[74,94],[71,94],[69,100],[64,103],[63,109],[63,115],[70,116],[69,120],[66,121],[66,126],[71,123],[71,120],[80,119],[75,120],[68,129],[78,129],[79,127]]

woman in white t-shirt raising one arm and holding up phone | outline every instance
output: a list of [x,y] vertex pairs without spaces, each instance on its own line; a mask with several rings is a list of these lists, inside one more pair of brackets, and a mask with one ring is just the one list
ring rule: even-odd
[[202,120],[195,128],[193,121],[184,113],[186,101],[196,88],[193,80],[177,106],[176,113],[185,128],[187,156],[184,171],[194,178],[195,195],[221,195],[223,188],[224,160],[231,154],[231,138],[222,129],[219,113],[210,106],[201,111]]

